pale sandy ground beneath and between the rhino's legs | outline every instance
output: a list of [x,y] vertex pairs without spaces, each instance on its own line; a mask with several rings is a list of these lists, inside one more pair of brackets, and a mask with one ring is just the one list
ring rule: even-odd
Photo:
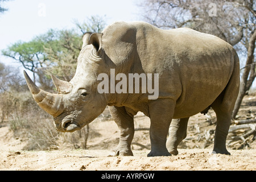
[[[253,98],[256,101],[255,97]],[[256,102],[254,102],[255,104]],[[247,108],[247,107],[246,107]],[[256,106],[248,107],[256,115]],[[107,113],[108,114],[108,113]],[[243,114],[246,114],[245,112]],[[232,150],[228,155],[210,154],[212,143],[203,148],[205,131],[213,125],[205,122],[204,115],[195,115],[189,121],[187,140],[179,146],[179,155],[147,158],[150,149],[148,130],[135,131],[132,150],[134,156],[110,157],[118,144],[118,127],[110,119],[98,119],[90,129],[100,133],[88,140],[88,150],[73,150],[63,146],[55,151],[24,151],[22,138],[13,137],[7,123],[0,126],[0,170],[55,170],[55,171],[212,171],[212,170],[256,170],[255,140],[249,150]],[[135,117],[135,129],[145,129],[150,120],[143,114]],[[201,137],[200,139],[198,139]],[[253,147],[254,146],[254,147]]]

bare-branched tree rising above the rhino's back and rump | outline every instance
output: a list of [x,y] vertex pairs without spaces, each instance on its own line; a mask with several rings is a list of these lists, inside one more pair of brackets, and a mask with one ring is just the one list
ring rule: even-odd
[[[253,0],[144,0],[142,16],[156,27],[189,27],[216,35],[246,57],[241,69],[240,93],[232,117],[235,118],[243,97],[251,88],[255,73],[256,2]],[[240,57],[241,57],[240,56]]]

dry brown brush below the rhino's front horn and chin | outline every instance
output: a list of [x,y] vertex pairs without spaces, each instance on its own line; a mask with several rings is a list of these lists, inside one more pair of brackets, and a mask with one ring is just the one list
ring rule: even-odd
[[14,137],[27,141],[24,150],[57,150],[60,146],[86,149],[93,135],[89,126],[74,133],[59,133],[53,127],[52,116],[40,109],[30,92],[0,94],[0,111],[14,131]]

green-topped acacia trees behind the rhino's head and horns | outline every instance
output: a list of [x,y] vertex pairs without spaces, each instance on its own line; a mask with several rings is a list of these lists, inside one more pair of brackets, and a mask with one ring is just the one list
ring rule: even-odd
[[[50,90],[53,86],[50,73],[65,81],[75,75],[77,57],[82,46],[83,31],[100,32],[104,28],[104,19],[96,16],[84,23],[76,23],[78,31],[49,30],[36,36],[30,42],[17,42],[2,50],[2,54],[13,58],[31,71],[34,81],[39,82],[43,89]],[[80,32],[81,31],[81,32]],[[45,76],[46,75],[46,76]]]

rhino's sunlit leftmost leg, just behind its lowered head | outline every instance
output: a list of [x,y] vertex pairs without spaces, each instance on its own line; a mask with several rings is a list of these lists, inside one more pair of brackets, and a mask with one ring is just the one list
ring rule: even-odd
[[126,112],[125,107],[109,106],[110,113],[120,130],[119,144],[115,148],[115,156],[133,156],[131,141],[134,137],[133,115]]

